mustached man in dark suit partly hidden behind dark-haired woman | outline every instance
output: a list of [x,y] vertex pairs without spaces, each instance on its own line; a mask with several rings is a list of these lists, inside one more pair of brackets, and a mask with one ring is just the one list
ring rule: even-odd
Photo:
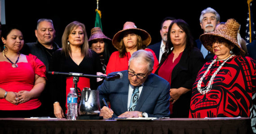
[[158,59],[159,63],[160,63],[162,54],[164,53],[165,44],[167,42],[168,28],[173,20],[175,20],[174,17],[165,17],[163,19],[163,21],[161,23],[161,29],[160,29],[162,41],[148,46],[148,48],[150,48],[151,50],[154,51],[154,54],[155,54],[156,58]]

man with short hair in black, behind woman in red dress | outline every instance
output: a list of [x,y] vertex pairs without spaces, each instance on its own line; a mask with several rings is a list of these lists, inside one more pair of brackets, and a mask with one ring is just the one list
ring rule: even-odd
[[[53,40],[55,38],[55,29],[53,27],[53,21],[50,19],[39,19],[37,21],[37,27],[35,29],[35,36],[37,38],[36,42],[26,43],[24,44],[21,53],[22,54],[33,54],[38,59],[40,59],[44,65],[46,66],[46,72],[49,71],[49,62],[52,58],[53,53],[59,49],[57,43]],[[48,78],[49,75],[46,74]],[[45,116],[49,116],[52,111],[53,105],[50,105],[49,101],[49,92],[48,91],[49,84],[45,85],[44,91],[40,95],[40,101],[42,102],[42,107],[45,112]],[[53,114],[53,113],[52,113]]]

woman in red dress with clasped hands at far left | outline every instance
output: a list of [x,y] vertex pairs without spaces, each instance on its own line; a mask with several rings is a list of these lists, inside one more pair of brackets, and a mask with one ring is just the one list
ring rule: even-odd
[[36,56],[23,55],[22,32],[7,26],[0,53],[0,117],[41,116],[38,99],[45,86],[46,67]]

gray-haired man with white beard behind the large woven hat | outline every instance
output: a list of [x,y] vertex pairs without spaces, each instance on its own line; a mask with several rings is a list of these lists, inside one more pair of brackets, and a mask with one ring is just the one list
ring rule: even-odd
[[[203,33],[209,33],[214,31],[216,25],[220,23],[220,15],[213,8],[208,7],[201,12],[199,20]],[[197,39],[195,42],[197,48],[200,49],[203,54],[203,58],[206,61],[213,59],[214,54],[211,54],[208,50],[206,50],[199,39]]]

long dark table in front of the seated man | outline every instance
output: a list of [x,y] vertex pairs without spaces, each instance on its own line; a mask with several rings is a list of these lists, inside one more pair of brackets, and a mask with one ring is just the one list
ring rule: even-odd
[[252,129],[247,117],[154,121],[0,118],[0,134],[252,134]]

